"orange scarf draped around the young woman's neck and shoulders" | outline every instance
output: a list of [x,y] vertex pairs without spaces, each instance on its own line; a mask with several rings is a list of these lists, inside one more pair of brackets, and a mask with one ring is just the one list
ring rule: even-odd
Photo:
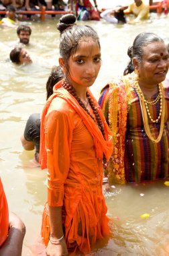
[[41,127],[40,127],[40,164],[41,164],[42,170],[44,168],[47,168],[46,166],[47,154],[46,154],[45,139],[44,139],[45,138],[44,120],[45,120],[46,114],[48,113],[48,108],[50,107],[52,100],[56,97],[66,100],[66,102],[68,102],[68,104],[70,104],[70,106],[81,117],[84,125],[87,127],[87,129],[89,130],[89,132],[93,137],[97,158],[103,158],[103,154],[105,154],[105,157],[107,158],[107,160],[109,160],[113,150],[112,141],[111,141],[111,131],[105,121],[105,117],[102,113],[102,110],[99,104],[97,103],[97,100],[95,100],[90,90],[88,90],[99,112],[99,116],[101,117],[101,120],[103,122],[104,129],[105,129],[105,139],[103,138],[101,130],[99,129],[95,121],[93,121],[93,119],[89,117],[86,111],[84,111],[84,109],[78,104],[76,99],[67,90],[65,90],[64,88],[61,88],[61,86],[62,86],[62,81],[58,82],[58,84],[54,86],[54,94],[50,96],[42,112]]

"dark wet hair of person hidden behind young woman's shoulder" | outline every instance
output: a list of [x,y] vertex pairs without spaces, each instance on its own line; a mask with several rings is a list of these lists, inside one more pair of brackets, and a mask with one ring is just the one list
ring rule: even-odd
[[62,69],[60,66],[52,67],[52,71],[50,76],[48,77],[48,81],[46,83],[46,100],[53,94],[53,87],[63,78]]

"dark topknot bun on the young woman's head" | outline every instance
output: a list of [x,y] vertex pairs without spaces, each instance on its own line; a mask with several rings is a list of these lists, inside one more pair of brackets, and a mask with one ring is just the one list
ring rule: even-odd
[[60,32],[63,32],[66,28],[68,28],[69,26],[72,26],[74,22],[76,22],[76,16],[74,14],[72,13],[65,14],[59,19],[59,22],[57,24],[57,29]]

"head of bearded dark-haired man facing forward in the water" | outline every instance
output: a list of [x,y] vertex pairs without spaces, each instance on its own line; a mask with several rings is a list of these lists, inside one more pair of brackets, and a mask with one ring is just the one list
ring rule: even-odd
[[30,35],[32,30],[29,26],[20,25],[17,28],[17,36],[19,37],[19,42],[22,44],[29,44]]

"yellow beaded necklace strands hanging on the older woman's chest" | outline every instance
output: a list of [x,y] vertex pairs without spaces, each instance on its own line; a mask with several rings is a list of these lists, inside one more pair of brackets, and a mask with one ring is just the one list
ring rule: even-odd
[[[162,83],[160,83],[158,85],[159,94],[158,94],[157,98],[152,101],[148,101],[144,98],[144,94],[143,94],[141,88],[139,87],[136,77],[134,78],[133,86],[139,96],[139,102],[140,102],[140,106],[141,106],[141,110],[142,110],[142,117],[143,117],[143,121],[144,121],[144,129],[146,131],[146,134],[148,135],[149,139],[151,139],[154,143],[158,143],[162,138],[162,133],[164,130],[164,118],[165,118],[165,99],[164,99],[164,89],[163,89]],[[160,100],[160,113],[158,115],[158,118],[156,120],[154,120],[154,119],[152,119],[152,116],[150,115],[150,110],[148,108],[148,104],[154,105],[158,102],[158,100]],[[156,139],[154,139],[154,137],[152,136],[152,133],[150,131],[148,117],[150,118],[152,123],[158,123],[158,121],[161,118],[160,133]]]

